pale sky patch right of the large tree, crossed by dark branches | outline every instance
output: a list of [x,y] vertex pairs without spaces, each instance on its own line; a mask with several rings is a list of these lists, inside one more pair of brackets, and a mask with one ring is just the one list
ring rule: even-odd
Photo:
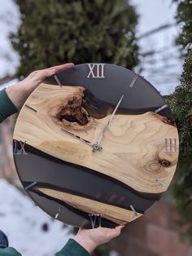
[[[137,34],[141,35],[163,24],[176,23],[177,5],[172,0],[131,0],[140,15]],[[138,43],[141,52],[157,51],[157,54],[142,58],[139,68],[163,95],[170,94],[179,85],[183,60],[179,48],[175,45],[179,29],[177,26],[164,29]],[[138,71],[138,70],[137,70]]]

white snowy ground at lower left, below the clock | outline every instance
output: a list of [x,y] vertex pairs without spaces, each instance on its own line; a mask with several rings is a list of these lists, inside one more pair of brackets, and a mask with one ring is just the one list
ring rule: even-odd
[[23,256],[53,256],[73,236],[72,227],[50,218],[5,179],[0,179],[0,229]]

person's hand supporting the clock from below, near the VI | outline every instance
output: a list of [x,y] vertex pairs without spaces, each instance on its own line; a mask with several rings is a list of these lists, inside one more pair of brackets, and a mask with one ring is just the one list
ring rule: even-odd
[[93,229],[80,228],[74,240],[83,246],[89,254],[91,254],[98,245],[103,245],[116,236],[120,235],[120,232],[124,226],[118,226],[115,228],[98,227]]

